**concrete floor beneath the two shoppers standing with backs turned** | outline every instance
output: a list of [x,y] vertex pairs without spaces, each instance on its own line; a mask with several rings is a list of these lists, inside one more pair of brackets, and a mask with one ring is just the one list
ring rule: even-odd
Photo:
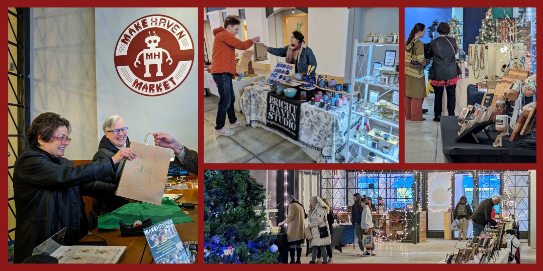
[[424,121],[405,120],[405,163],[445,163],[441,146],[440,122],[434,118],[434,94],[430,93],[422,108]]

